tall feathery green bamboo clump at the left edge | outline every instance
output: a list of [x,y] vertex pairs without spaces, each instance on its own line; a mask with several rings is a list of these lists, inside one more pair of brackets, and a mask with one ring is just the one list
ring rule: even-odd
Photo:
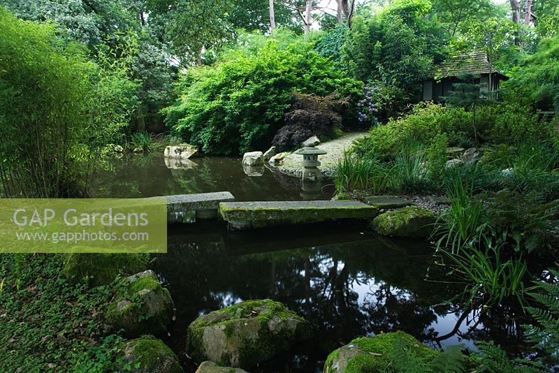
[[88,61],[48,24],[0,9],[0,180],[8,196],[85,196],[92,161],[136,107],[126,60]]

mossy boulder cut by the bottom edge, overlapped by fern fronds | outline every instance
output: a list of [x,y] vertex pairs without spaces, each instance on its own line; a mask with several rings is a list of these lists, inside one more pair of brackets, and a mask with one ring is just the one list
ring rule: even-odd
[[[398,345],[400,347],[398,347]],[[433,360],[440,352],[421,344],[405,332],[361,337],[333,351],[324,364],[324,373],[397,372],[394,366],[395,349],[404,347],[422,363]]]

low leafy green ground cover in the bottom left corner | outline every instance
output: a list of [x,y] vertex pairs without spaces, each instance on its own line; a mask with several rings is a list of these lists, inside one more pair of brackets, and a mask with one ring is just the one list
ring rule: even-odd
[[124,339],[102,317],[110,286],[71,285],[63,267],[57,254],[0,256],[1,372],[107,372],[122,364]]

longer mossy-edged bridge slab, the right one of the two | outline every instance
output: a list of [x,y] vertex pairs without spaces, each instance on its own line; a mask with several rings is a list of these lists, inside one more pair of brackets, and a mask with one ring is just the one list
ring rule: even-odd
[[377,213],[377,207],[353,200],[219,203],[219,214],[233,230],[331,219],[372,219]]

